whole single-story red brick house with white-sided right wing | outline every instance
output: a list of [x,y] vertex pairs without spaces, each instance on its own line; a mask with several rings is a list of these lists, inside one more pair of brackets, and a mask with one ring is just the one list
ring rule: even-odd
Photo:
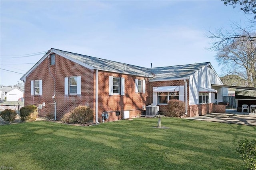
[[169,99],[186,102],[186,116],[193,117],[222,102],[222,88],[212,84],[223,84],[210,62],[144,68],[52,48],[20,80],[25,105],[56,97],[57,119],[78,105],[92,108],[97,123],[104,112],[109,121],[139,117],[151,104],[166,114]]

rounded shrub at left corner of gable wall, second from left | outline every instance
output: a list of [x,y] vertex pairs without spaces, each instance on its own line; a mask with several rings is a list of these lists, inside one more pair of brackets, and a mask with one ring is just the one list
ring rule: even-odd
[[35,121],[37,116],[38,112],[35,105],[27,105],[20,108],[20,119],[22,121]]

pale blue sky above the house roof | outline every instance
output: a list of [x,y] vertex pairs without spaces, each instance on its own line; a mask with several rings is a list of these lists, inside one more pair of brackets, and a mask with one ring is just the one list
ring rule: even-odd
[[0,85],[15,85],[43,57],[25,54],[52,47],[142,67],[210,61],[222,76],[207,31],[246,17],[221,0],[1,0]]

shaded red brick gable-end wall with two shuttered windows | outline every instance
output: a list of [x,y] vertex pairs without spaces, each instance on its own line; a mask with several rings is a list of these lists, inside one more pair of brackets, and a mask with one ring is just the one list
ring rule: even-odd
[[[60,55],[55,55],[56,64],[50,65],[52,76],[56,80],[56,118],[61,119],[65,113],[68,113],[79,105],[89,105],[94,108],[94,70],[87,69],[73,61],[65,59]],[[25,105],[39,105],[43,102],[54,103],[54,79],[49,72],[49,59],[46,57],[36,69],[32,71],[25,82]],[[64,95],[64,77],[81,76],[81,93],[82,95]],[[31,95],[30,81],[42,80],[42,95]],[[43,113],[41,115],[47,115]]]

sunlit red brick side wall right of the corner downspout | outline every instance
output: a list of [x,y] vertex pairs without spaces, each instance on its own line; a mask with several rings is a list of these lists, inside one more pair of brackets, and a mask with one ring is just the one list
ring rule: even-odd
[[[109,76],[123,77],[125,82],[125,95],[109,95]],[[102,121],[102,113],[107,111],[110,115],[107,121],[123,119],[124,112],[130,111],[130,118],[141,115],[142,105],[146,105],[147,93],[135,93],[135,79],[146,80],[144,77],[124,75],[99,71],[98,74],[98,115]],[[146,84],[148,81],[146,80]],[[146,85],[146,89],[147,89]],[[120,116],[116,116],[116,111],[120,111]]]

